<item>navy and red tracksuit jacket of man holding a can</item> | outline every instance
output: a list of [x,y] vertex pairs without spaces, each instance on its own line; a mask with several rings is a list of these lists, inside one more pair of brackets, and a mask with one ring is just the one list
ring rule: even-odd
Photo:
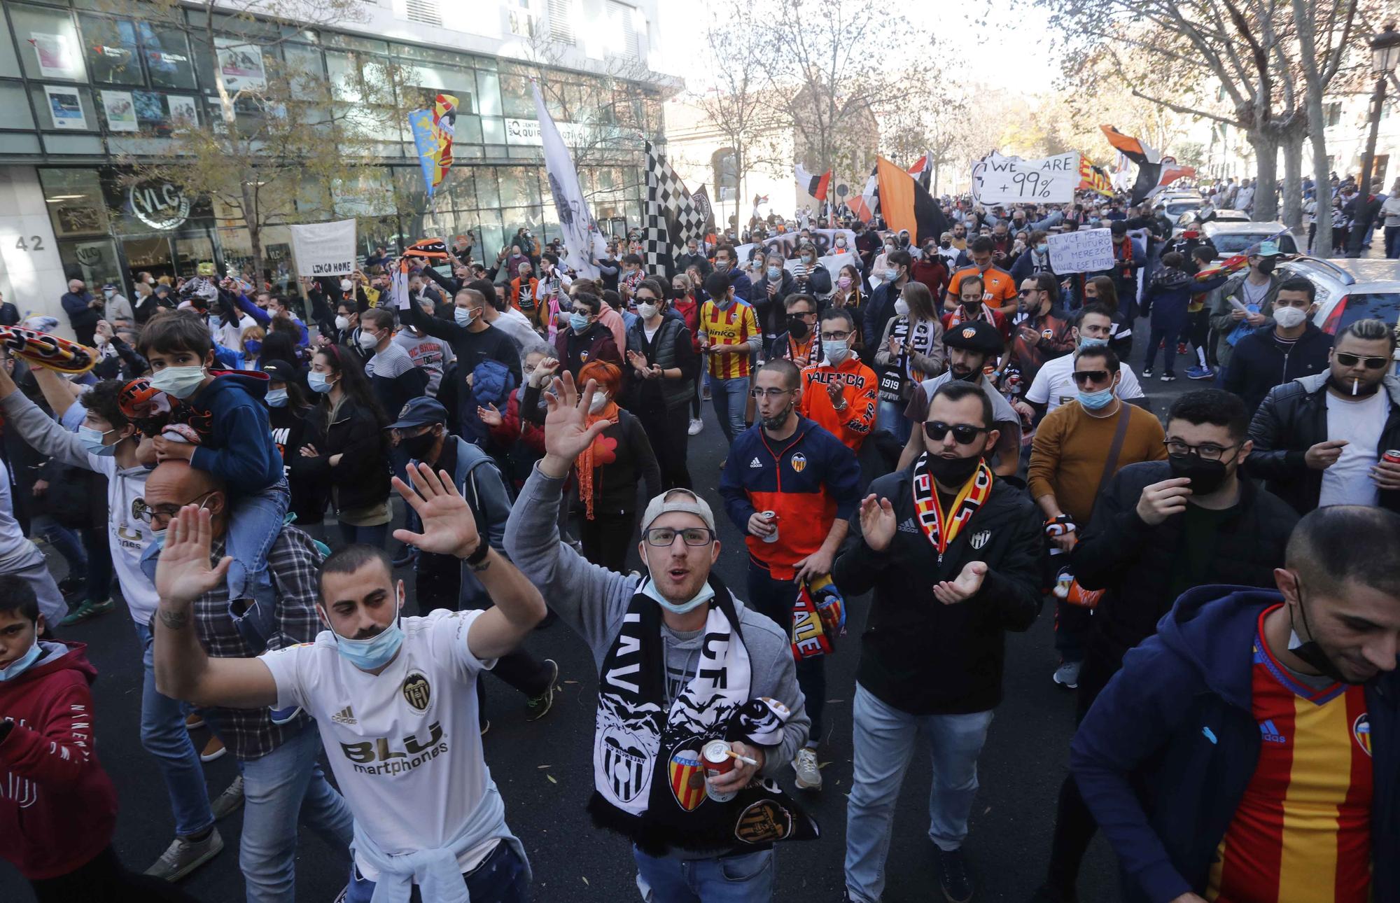
[[[815,421],[798,417],[797,433],[770,440],[762,424],[734,437],[720,477],[724,508],[749,546],[749,560],[774,580],[792,580],[792,567],[822,547],[836,518],[848,519],[861,500],[855,454]],[[778,515],[777,542],[748,535],[755,511]]]

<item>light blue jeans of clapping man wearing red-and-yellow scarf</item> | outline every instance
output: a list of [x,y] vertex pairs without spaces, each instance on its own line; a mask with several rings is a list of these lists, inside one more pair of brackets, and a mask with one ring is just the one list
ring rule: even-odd
[[854,773],[846,804],[846,889],[853,900],[875,903],[885,889],[885,858],[895,801],[914,755],[928,741],[934,787],[928,794],[928,837],[952,851],[967,836],[977,795],[977,756],[987,741],[991,711],[966,715],[911,715],[886,706],[855,685]]

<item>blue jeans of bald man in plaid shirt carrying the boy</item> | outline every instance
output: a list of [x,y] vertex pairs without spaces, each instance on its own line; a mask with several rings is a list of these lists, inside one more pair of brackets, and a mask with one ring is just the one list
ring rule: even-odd
[[260,759],[239,762],[244,776],[244,833],[238,868],[248,885],[248,903],[293,903],[295,893],[297,822],[305,822],[349,855],[354,834],[350,808],[336,792],[316,756],[321,732],[307,725]]

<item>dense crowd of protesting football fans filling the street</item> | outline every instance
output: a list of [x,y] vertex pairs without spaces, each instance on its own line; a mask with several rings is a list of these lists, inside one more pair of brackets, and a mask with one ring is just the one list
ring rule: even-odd
[[[1400,899],[1394,323],[1320,330],[1275,245],[1222,263],[1159,203],[942,206],[938,235],[753,220],[664,272],[638,234],[570,266],[522,228],[293,291],[70,283],[92,371],[0,370],[0,854],[45,903],[185,900],[242,806],[249,902],[294,899],[298,812],[351,858],[344,900],[531,899],[480,690],[491,671],[547,715],[559,666],[521,641],[557,617],[599,673],[592,741],[566,745],[641,899],[787,899],[776,850],[834,843],[802,797],[836,729],[844,899],[911,868],[889,848],[923,738],[960,903],[1005,634],[1049,602],[1078,729],[1036,900],[1077,899],[1098,829],[1123,899]],[[1081,228],[1113,267],[1054,270],[1049,237]],[[1183,354],[1201,388],[1152,410]],[[690,444],[721,437],[701,473]],[[141,714],[102,731],[140,731],[174,834],[144,874],[112,850],[95,669],[64,636],[116,598]],[[211,798],[221,755],[239,777]]]

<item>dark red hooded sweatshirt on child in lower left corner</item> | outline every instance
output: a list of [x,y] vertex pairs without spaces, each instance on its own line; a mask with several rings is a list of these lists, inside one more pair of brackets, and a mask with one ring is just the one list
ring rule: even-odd
[[116,791],[92,741],[97,669],[83,643],[41,641],[39,661],[0,682],[0,855],[31,881],[91,861],[116,826]]

